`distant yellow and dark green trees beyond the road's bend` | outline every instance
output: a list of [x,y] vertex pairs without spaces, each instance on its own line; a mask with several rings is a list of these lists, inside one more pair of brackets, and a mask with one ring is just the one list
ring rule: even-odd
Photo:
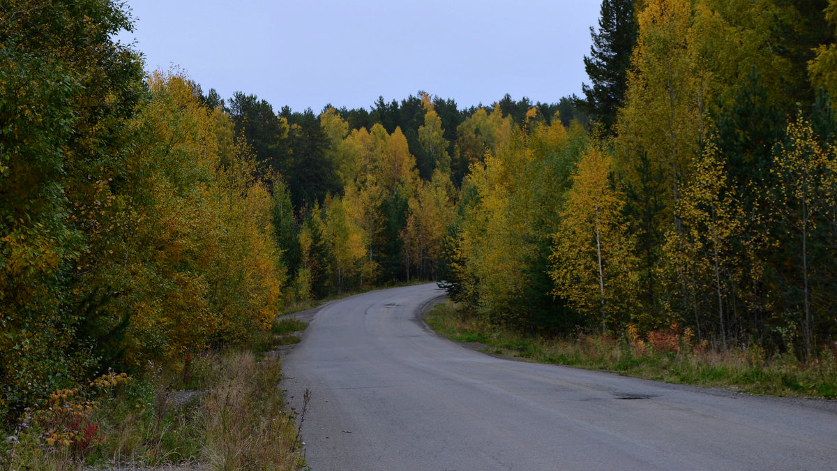
[[275,240],[297,299],[436,279],[462,181],[494,145],[498,127],[532,116],[588,122],[575,96],[545,104],[506,95],[460,110],[419,91],[400,102],[380,97],[369,111],[327,105],[316,116],[195,86],[205,106],[230,116],[259,174],[275,182]]

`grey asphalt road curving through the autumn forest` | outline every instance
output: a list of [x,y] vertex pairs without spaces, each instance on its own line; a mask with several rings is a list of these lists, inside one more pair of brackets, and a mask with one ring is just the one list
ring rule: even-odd
[[285,357],[326,469],[837,469],[837,403],[484,355],[431,332],[434,284],[322,308]]

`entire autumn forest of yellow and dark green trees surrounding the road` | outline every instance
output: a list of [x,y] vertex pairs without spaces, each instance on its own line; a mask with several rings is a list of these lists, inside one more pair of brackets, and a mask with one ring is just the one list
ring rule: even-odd
[[524,333],[837,354],[837,0],[604,0],[583,96],[461,109],[222,98],[131,28],[0,5],[4,422],[413,280]]

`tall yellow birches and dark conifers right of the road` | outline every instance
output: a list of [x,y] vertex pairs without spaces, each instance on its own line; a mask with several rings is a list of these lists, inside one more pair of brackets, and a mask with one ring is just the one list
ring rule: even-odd
[[547,334],[677,323],[720,349],[833,355],[835,13],[603,1],[593,126],[524,123],[470,168],[449,291]]

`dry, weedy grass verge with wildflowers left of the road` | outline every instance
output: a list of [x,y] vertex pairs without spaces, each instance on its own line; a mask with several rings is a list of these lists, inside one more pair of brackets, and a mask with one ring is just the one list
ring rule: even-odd
[[187,355],[180,365],[149,364],[141,379],[114,374],[64,391],[4,431],[0,469],[302,468],[280,361],[264,354],[281,339],[265,332],[241,348]]

